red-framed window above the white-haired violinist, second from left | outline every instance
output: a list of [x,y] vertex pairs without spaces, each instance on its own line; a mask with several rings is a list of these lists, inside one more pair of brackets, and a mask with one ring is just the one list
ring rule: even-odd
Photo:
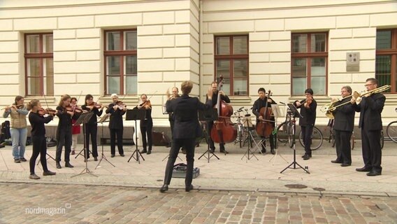
[[107,94],[137,93],[136,30],[105,31]]

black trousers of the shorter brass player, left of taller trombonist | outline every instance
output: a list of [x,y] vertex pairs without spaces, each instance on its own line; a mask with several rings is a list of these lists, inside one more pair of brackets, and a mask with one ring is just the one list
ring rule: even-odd
[[336,161],[352,164],[352,146],[350,144],[352,133],[351,131],[334,130]]

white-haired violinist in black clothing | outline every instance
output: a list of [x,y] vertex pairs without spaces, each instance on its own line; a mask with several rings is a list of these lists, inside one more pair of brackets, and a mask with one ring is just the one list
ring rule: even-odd
[[110,96],[113,100],[112,104],[109,104],[106,113],[110,113],[109,130],[110,130],[110,156],[115,157],[116,151],[116,135],[117,135],[117,149],[120,156],[124,157],[123,150],[123,115],[127,111],[127,107],[122,105],[119,101],[117,94],[113,93]]

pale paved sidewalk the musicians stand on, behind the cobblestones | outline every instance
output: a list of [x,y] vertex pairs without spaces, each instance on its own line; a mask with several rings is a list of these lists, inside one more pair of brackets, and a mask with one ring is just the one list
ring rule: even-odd
[[[79,145],[80,149],[82,145]],[[315,194],[340,194],[340,195],[380,195],[397,196],[397,150],[393,142],[385,142],[382,150],[382,176],[366,176],[366,172],[356,172],[357,167],[363,167],[361,157],[361,142],[356,141],[352,151],[352,166],[340,167],[331,163],[335,160],[335,148],[331,148],[327,141],[324,141],[322,148],[313,151],[310,160],[302,160],[303,147],[296,146],[296,162],[302,167],[308,167],[310,174],[307,174],[296,166],[297,169],[286,169],[280,172],[293,162],[293,150],[287,146],[279,148],[280,155],[277,155],[271,162],[273,155],[261,155],[254,153],[257,157],[244,157],[247,147],[239,148],[238,145],[226,144],[229,154],[219,153],[217,147],[215,154],[219,157],[212,157],[210,161],[205,157],[198,158],[207,149],[206,144],[196,148],[194,167],[200,168],[200,176],[193,180],[193,185],[198,190],[248,190],[259,192],[278,193],[315,193]],[[99,158],[101,149],[99,146]],[[103,147],[106,160],[102,160],[99,167],[98,162],[93,158],[89,159],[88,169],[91,174],[85,173],[85,162],[82,156],[77,159],[71,155],[71,164],[74,168],[55,168],[55,161],[49,159],[48,167],[51,171],[57,172],[55,176],[43,176],[41,165],[36,166],[36,174],[41,176],[40,180],[29,179],[29,162],[14,163],[11,147],[6,146],[0,149],[0,182],[8,183],[52,183],[52,184],[79,184],[94,186],[131,186],[136,188],[159,188],[164,179],[164,169],[169,148],[154,146],[152,154],[143,154],[140,164],[133,158],[129,160],[135,146],[124,146],[124,158],[116,154],[110,158],[110,146]],[[80,151],[80,150],[78,150]],[[55,157],[55,147],[48,148],[48,153]],[[27,146],[25,158],[29,160],[31,146]],[[208,155],[208,154],[205,154]],[[250,155],[252,156],[252,155]],[[62,160],[64,156],[62,155]],[[185,155],[180,153],[180,159],[176,163],[185,162]],[[287,160],[284,161],[284,159]],[[258,159],[258,160],[257,160]],[[38,160],[37,160],[38,161]],[[37,162],[36,162],[37,163]],[[72,177],[73,175],[82,175]],[[296,185],[288,188],[286,185]],[[185,188],[184,179],[172,179],[170,190]]]

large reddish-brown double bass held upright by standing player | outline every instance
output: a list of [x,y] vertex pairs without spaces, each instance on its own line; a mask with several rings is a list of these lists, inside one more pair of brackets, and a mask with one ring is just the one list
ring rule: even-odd
[[215,108],[218,113],[218,120],[215,120],[214,126],[211,130],[211,139],[216,143],[229,143],[236,140],[237,130],[233,126],[230,120],[233,114],[233,107],[221,100],[221,94],[219,93],[222,89],[223,76],[220,76],[218,83],[218,99]]

